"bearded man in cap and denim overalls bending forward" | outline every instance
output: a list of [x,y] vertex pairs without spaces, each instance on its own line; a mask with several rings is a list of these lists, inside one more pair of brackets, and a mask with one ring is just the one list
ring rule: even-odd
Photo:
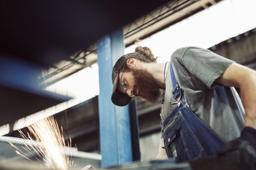
[[[244,166],[256,168],[253,69],[195,46],[179,48],[170,62],[160,64],[149,48],[139,46],[116,61],[112,82],[111,101],[117,106],[134,96],[155,103],[163,89],[157,159],[185,162],[239,150],[249,155]],[[234,87],[240,88],[243,104]]]

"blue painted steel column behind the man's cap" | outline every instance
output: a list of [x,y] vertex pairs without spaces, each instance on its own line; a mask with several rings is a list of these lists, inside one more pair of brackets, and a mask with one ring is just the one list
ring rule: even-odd
[[123,29],[97,41],[99,64],[99,122],[102,168],[132,161],[129,107],[111,102],[112,67],[124,54]]

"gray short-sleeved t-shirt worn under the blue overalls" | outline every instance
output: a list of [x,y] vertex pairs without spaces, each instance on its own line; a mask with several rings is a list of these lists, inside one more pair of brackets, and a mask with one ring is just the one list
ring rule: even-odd
[[[234,61],[210,50],[188,46],[173,52],[171,62],[175,78],[182,89],[182,101],[224,141],[239,137],[244,126],[241,100],[234,87],[221,87],[215,82]],[[168,117],[177,103],[172,96],[170,62],[167,66],[161,111],[163,118]]]

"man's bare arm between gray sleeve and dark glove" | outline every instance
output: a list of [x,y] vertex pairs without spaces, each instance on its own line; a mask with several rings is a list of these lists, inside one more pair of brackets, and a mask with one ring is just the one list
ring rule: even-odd
[[256,71],[233,63],[216,82],[220,85],[240,88],[245,110],[244,126],[256,129]]

